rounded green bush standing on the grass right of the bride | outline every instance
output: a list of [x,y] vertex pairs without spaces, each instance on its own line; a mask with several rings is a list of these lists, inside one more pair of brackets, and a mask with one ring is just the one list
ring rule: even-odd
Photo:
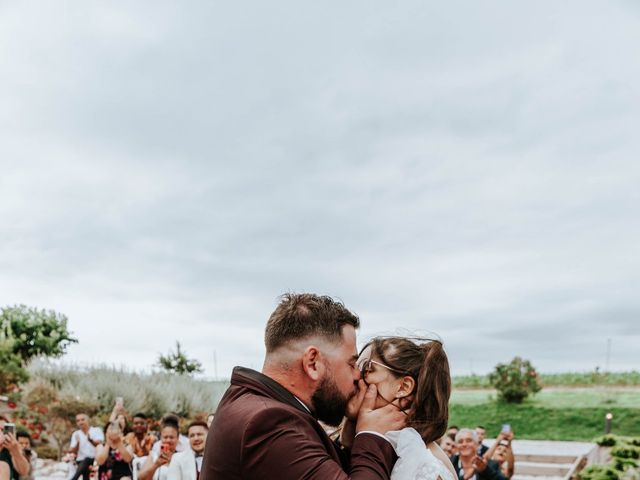
[[496,365],[489,381],[498,391],[499,398],[510,403],[522,403],[530,394],[542,389],[531,362],[520,357]]

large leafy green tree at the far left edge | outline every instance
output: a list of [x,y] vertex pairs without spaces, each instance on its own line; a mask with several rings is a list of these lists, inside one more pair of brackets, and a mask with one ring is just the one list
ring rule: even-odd
[[26,305],[0,309],[0,392],[28,380],[34,357],[60,357],[78,340],[67,330],[67,317]]

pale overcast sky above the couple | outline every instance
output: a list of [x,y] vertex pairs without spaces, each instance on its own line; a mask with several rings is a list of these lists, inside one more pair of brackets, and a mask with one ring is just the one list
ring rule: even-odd
[[3,1],[0,305],[78,365],[259,369],[292,291],[456,375],[637,370],[639,44],[631,0]]

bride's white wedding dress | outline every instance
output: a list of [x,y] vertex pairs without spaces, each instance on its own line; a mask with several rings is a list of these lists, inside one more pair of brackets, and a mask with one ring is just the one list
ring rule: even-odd
[[451,471],[431,453],[413,428],[387,432],[398,454],[391,480],[454,480]]

